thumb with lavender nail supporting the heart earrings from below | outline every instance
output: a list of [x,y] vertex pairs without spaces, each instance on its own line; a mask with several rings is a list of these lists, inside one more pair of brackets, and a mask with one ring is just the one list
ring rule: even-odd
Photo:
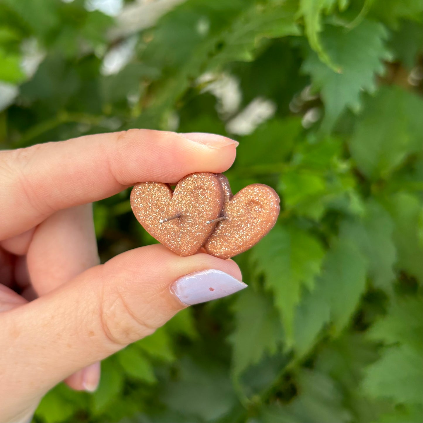
[[92,267],[0,315],[0,345],[6,346],[0,398],[16,412],[22,401],[150,335],[187,305],[245,288],[240,278],[231,260],[203,253],[179,257],[160,244]]

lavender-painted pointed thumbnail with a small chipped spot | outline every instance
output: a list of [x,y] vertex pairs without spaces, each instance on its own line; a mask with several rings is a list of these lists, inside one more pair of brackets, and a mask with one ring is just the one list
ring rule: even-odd
[[244,282],[220,270],[191,273],[173,282],[170,290],[185,305],[198,304],[226,297],[247,288]]

